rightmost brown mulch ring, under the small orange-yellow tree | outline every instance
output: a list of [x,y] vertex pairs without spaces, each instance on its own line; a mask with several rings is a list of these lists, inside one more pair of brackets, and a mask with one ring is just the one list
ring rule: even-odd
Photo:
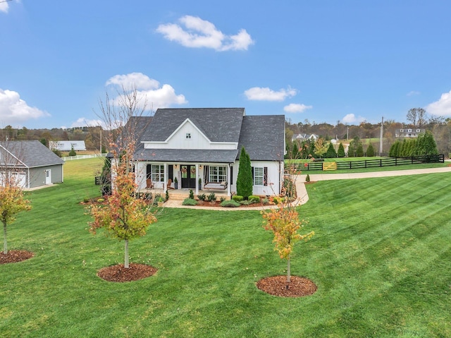
[[290,283],[287,283],[286,275],[260,279],[257,287],[266,294],[278,297],[310,296],[318,289],[314,282],[304,277],[291,276]]

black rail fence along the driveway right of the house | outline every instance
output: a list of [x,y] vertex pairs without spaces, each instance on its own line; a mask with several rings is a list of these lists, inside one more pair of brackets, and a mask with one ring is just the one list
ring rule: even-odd
[[[412,157],[383,157],[381,159],[364,159],[362,161],[336,162],[337,170],[340,169],[362,169],[375,167],[393,167],[406,164],[444,163],[445,155],[423,155]],[[323,164],[330,162],[309,162],[304,164],[287,164],[288,171],[310,171],[323,170]],[[287,168],[288,169],[288,168]]]

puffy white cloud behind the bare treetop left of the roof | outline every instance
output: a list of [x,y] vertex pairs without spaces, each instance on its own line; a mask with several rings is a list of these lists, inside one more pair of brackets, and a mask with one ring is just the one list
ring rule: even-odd
[[[143,73],[116,75],[106,81],[106,85],[124,87],[125,90],[136,88],[140,102],[147,101],[147,109],[167,108],[173,104],[186,104],[185,95],[176,95],[171,85],[162,85],[157,80],[149,78]],[[119,89],[121,92],[121,89]],[[117,103],[117,99],[115,102]]]

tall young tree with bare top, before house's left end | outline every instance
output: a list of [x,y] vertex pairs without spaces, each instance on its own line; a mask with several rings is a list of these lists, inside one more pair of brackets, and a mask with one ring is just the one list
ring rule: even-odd
[[[137,184],[135,182],[134,155],[140,131],[145,102],[142,104],[136,89],[119,95],[117,106],[106,96],[106,104],[101,102],[104,121],[110,130],[111,137],[111,195],[106,205],[91,205],[90,213],[94,220],[89,230],[96,234],[97,229],[104,228],[113,238],[124,241],[124,267],[129,267],[128,241],[144,236],[147,227],[156,222],[152,211],[152,204],[142,198],[137,198]],[[127,121],[125,126],[123,124]],[[116,128],[113,128],[116,127]],[[109,164],[106,165],[108,167]]]

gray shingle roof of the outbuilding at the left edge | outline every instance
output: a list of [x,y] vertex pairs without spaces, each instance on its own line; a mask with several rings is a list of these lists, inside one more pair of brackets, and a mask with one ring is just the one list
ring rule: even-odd
[[[8,141],[0,143],[1,150],[4,148],[11,154],[18,157],[25,164],[25,167],[45,167],[49,165],[63,164],[64,161],[54,154],[48,147],[37,140],[34,141]],[[10,157],[11,158],[11,157]],[[20,166],[20,163],[11,163]]]

